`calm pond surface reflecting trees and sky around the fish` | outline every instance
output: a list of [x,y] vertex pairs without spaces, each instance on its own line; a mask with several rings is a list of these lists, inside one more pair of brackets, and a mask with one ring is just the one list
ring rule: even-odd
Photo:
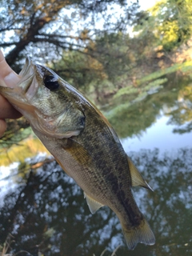
[[114,213],[102,207],[90,214],[82,190],[50,155],[39,153],[0,168],[4,255],[109,256],[115,249],[118,256],[192,255],[192,81],[176,84],[169,78],[164,89],[139,102],[126,106],[123,97],[103,108],[154,189],[134,188],[154,246],[128,250]]

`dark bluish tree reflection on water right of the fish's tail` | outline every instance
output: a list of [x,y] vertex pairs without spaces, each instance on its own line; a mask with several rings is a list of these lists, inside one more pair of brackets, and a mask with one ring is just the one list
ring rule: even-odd
[[156,253],[150,250],[146,255],[190,255],[192,149],[178,150],[174,157],[169,154],[159,157],[158,150],[143,150],[134,154],[133,159],[154,188],[154,194],[141,199],[157,239]]

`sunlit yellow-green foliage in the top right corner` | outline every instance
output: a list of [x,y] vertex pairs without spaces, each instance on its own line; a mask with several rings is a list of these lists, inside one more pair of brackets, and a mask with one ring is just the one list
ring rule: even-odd
[[162,45],[164,50],[174,50],[192,35],[191,1],[158,1],[138,19],[134,30],[142,31],[142,35],[153,33],[157,45]]

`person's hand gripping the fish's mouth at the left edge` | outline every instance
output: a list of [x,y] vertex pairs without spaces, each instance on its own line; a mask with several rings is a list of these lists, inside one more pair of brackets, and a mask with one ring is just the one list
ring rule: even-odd
[[[6,63],[6,60],[0,50],[0,84],[1,80],[6,83],[6,86],[14,87],[19,81],[18,74],[14,73],[14,70]],[[6,130],[6,121],[5,118],[20,118],[20,114],[13,106],[0,95],[0,138]]]

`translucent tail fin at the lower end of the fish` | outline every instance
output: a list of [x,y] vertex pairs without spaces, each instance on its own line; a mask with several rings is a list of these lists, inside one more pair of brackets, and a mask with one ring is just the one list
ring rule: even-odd
[[122,225],[122,231],[126,238],[126,244],[130,250],[134,250],[138,242],[145,243],[146,245],[154,245],[155,238],[154,233],[150,229],[150,225],[146,222],[144,218],[141,224],[131,230],[127,230],[126,227]]

